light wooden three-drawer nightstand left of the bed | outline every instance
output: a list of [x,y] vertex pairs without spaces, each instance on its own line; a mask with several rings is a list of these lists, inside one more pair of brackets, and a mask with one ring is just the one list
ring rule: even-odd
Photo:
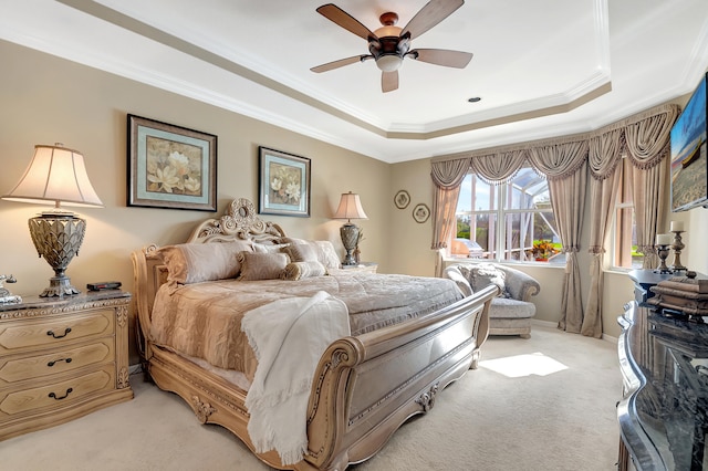
[[0,305],[0,440],[133,398],[121,290]]

